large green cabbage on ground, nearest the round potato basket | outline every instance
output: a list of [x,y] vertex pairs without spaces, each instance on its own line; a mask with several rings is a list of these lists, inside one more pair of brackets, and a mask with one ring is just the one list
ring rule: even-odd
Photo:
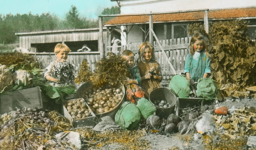
[[124,102],[116,112],[115,121],[123,129],[132,130],[140,124],[140,110],[132,103]]

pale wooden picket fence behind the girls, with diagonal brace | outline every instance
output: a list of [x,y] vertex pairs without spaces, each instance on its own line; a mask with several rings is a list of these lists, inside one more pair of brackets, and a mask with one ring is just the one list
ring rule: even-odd
[[[189,46],[190,38],[177,38],[177,39],[170,39],[170,40],[160,40],[162,44],[162,48],[166,52],[168,59],[172,63],[173,67],[176,70],[177,74],[184,72],[184,65],[186,56],[188,55],[188,46]],[[111,51],[116,54],[120,54],[122,50],[132,50],[135,54],[135,59],[138,58],[138,47],[140,43],[136,44],[128,44],[126,46],[107,46],[107,52]],[[168,60],[166,56],[162,53],[160,46],[154,41],[153,46],[155,48],[155,57],[156,60],[159,62],[162,68],[162,74],[164,79],[169,79],[173,75],[175,75],[171,71],[171,67],[168,64]],[[112,48],[115,50],[119,48],[119,51],[112,51]]]

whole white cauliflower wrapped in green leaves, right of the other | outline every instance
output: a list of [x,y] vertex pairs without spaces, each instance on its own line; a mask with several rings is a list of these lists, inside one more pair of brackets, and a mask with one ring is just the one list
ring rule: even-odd
[[24,85],[27,86],[32,82],[33,74],[26,70],[16,70],[12,74],[12,80],[16,85]]

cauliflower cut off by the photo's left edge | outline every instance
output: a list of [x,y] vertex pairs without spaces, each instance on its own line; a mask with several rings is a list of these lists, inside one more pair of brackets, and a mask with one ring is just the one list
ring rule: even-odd
[[0,91],[9,85],[12,85],[12,72],[6,65],[0,64]]

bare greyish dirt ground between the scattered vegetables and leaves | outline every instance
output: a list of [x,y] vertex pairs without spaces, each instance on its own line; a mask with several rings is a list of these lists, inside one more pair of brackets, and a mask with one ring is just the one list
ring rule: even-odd
[[[226,98],[223,102],[218,102],[217,105],[227,106],[230,108],[244,108],[248,106],[256,106],[255,99],[244,98],[242,100]],[[162,135],[158,133],[145,132],[144,139],[150,143],[150,150],[204,150],[202,135],[196,133],[190,136],[190,140],[186,140],[186,136],[176,132],[173,134]],[[103,146],[103,150],[120,150],[122,145],[108,144]],[[141,148],[145,149],[145,148]],[[246,148],[245,148],[246,149]]]

